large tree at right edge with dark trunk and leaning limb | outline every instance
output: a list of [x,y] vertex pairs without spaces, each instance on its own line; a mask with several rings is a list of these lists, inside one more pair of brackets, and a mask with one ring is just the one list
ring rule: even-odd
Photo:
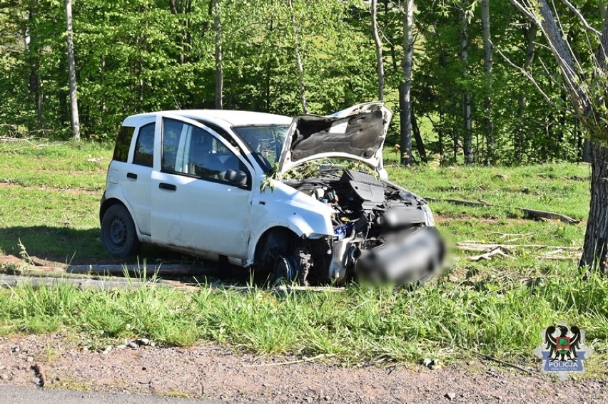
[[591,202],[580,265],[599,268],[604,274],[608,274],[608,182],[605,180],[608,177],[608,18],[604,18],[604,27],[602,32],[599,32],[589,25],[569,1],[563,1],[578,17],[579,23],[599,40],[597,51],[588,46],[585,49],[586,54],[582,55],[593,60],[592,74],[584,71],[579,63],[582,56],[577,56],[571,44],[562,36],[546,0],[511,0],[512,4],[537,24],[547,39],[574,112],[582,125],[589,130]]

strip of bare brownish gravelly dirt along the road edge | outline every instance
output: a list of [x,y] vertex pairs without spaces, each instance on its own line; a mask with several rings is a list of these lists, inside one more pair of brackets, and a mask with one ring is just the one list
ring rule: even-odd
[[[148,341],[139,341],[146,344]],[[425,367],[344,367],[255,358],[200,345],[113,346],[90,351],[64,335],[0,338],[0,384],[214,398],[230,403],[608,402],[607,381],[509,371],[480,361]],[[34,368],[39,366],[41,373]]]

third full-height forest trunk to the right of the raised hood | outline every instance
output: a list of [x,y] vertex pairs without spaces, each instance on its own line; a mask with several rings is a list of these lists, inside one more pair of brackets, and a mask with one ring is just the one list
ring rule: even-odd
[[494,123],[492,122],[492,36],[490,33],[490,0],[482,0],[482,37],[484,51],[485,87],[487,95],[484,100],[485,138],[487,144],[487,162],[496,161]]

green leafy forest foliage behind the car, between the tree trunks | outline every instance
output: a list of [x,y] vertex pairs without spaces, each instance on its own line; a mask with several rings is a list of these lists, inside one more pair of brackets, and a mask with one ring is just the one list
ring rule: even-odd
[[[0,13],[0,135],[69,137],[64,11],[51,0],[7,0]],[[498,162],[577,161],[585,131],[554,80],[554,58],[534,40],[527,70],[564,110],[549,108],[527,78],[510,66],[525,63],[529,21],[508,1],[490,6],[495,46],[490,86],[485,79],[479,1],[417,1],[412,105],[431,158],[461,162],[462,94],[472,98],[476,162],[487,161],[485,120],[494,123]],[[380,2],[388,105],[398,112],[402,82],[402,1]],[[597,46],[577,17],[559,3],[557,14],[575,53]],[[577,1],[600,29],[597,2]],[[226,1],[221,6],[224,107],[285,115],[301,112],[298,40],[311,113],[333,113],[377,95],[369,4],[361,0]],[[213,108],[215,32],[210,0],[100,1],[74,4],[79,110],[83,136],[113,139],[133,113]],[[462,16],[469,38],[460,57]],[[588,52],[587,52],[588,53]],[[580,60],[589,71],[592,61]],[[465,74],[465,70],[467,73]],[[551,74],[548,74],[551,73]],[[589,71],[589,74],[591,72]],[[593,89],[592,89],[593,90]],[[492,99],[486,111],[485,100]],[[389,142],[397,143],[394,120]],[[415,149],[416,150],[416,149]]]

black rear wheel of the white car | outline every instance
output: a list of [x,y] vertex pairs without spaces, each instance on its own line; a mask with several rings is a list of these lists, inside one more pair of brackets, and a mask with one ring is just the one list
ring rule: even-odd
[[135,223],[126,207],[113,204],[101,220],[101,242],[107,252],[118,257],[136,254],[141,248]]

